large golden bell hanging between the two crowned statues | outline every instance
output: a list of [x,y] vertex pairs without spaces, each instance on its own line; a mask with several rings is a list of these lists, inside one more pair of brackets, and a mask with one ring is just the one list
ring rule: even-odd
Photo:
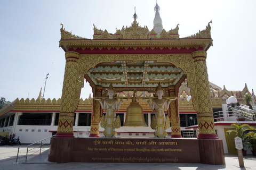
[[131,102],[127,107],[123,126],[148,126],[144,119],[143,109],[139,102]]

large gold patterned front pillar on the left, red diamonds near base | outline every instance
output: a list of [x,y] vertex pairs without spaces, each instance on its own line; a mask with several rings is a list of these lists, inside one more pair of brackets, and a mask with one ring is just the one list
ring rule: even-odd
[[74,138],[74,113],[77,109],[84,75],[78,71],[79,53],[66,53],[66,66],[62,87],[58,130],[55,138]]

